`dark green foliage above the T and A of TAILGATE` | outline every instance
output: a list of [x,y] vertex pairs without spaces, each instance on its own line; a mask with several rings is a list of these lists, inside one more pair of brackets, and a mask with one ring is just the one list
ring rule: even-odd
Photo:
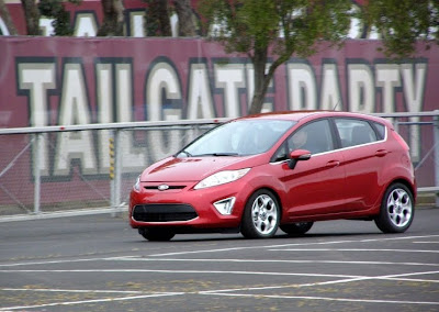
[[[80,4],[81,0],[69,0],[74,4]],[[70,25],[70,15],[65,10],[61,0],[41,0],[38,3],[40,13],[44,16],[52,18],[52,25],[57,36],[71,36],[74,29]]]

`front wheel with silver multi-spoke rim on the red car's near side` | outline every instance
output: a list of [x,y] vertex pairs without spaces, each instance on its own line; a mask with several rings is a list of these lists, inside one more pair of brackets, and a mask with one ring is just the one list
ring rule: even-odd
[[246,238],[273,237],[279,227],[280,211],[278,200],[271,191],[256,191],[246,203],[241,234]]

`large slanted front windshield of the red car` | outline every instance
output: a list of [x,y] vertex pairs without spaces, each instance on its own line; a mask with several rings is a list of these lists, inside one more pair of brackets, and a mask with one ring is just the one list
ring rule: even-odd
[[178,153],[178,157],[264,153],[294,124],[294,121],[285,120],[233,121],[205,133]]

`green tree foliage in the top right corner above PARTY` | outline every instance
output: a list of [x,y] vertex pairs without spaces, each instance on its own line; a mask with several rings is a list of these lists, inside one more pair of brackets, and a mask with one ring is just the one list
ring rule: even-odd
[[369,0],[362,19],[376,27],[387,56],[412,55],[418,40],[439,44],[437,0]]

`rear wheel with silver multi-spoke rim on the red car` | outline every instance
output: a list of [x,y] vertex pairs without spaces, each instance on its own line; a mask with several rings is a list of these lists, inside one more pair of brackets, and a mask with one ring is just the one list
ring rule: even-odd
[[391,185],[381,202],[376,226],[383,233],[404,233],[415,215],[415,201],[412,191],[403,183]]

